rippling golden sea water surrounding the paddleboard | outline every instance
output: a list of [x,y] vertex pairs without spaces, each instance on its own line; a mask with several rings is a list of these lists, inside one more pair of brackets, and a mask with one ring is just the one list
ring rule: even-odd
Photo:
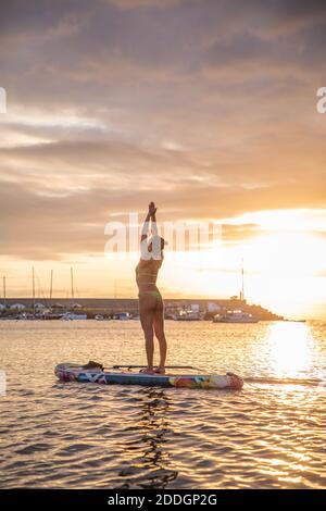
[[322,488],[326,326],[166,322],[168,362],[241,391],[60,383],[58,362],[143,363],[137,322],[0,322],[0,486]]

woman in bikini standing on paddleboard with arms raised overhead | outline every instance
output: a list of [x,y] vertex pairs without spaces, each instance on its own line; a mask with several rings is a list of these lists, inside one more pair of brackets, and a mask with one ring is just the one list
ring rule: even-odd
[[[141,230],[140,260],[136,267],[136,282],[139,289],[139,314],[145,334],[147,367],[141,372],[165,373],[166,339],[164,335],[164,308],[161,294],[156,287],[158,273],[163,262],[165,241],[158,236],[156,208],[153,202],[149,204],[148,213]],[[149,225],[151,221],[151,238]],[[154,334],[160,345],[160,364],[153,367]]]

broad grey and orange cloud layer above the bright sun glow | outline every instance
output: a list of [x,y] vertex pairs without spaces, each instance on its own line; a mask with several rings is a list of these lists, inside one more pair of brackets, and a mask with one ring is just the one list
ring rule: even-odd
[[1,253],[99,252],[110,213],[151,199],[164,220],[324,208],[325,14],[318,1],[2,2]]

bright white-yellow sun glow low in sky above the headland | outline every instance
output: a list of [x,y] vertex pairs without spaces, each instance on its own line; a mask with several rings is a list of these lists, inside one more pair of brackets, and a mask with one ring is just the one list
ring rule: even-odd
[[[236,242],[222,241],[200,252],[171,253],[164,270],[167,287],[188,296],[239,295],[243,258],[249,301],[290,317],[322,315],[326,239],[321,222],[325,213],[300,210],[297,214],[297,222],[296,211],[285,211],[284,216],[280,211],[275,216],[273,212],[243,215],[238,225],[254,223],[258,228],[252,236],[244,234]],[[237,219],[233,222],[237,225]]]

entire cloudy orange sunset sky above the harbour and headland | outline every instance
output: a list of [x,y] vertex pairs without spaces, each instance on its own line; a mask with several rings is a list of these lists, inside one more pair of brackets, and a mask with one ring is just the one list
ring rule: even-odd
[[[246,294],[326,317],[326,2],[4,0],[0,274],[8,297],[136,297],[137,253],[104,225],[215,222],[213,252],[167,252],[163,296]],[[114,284],[115,283],[115,284]],[[2,294],[2,290],[1,290]]]

